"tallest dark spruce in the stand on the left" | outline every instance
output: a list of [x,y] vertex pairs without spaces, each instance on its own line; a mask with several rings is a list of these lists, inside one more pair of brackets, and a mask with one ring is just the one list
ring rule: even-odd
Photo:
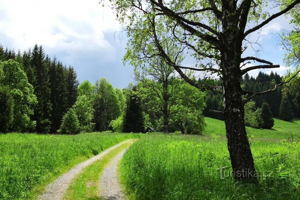
[[[35,78],[32,80],[35,95],[37,96],[38,104],[35,107],[32,119],[37,122],[36,132],[48,133],[50,129],[50,88],[49,88],[49,57],[45,59],[45,53],[42,46],[35,44],[31,55],[30,70],[35,71]],[[29,69],[27,67],[27,69]]]

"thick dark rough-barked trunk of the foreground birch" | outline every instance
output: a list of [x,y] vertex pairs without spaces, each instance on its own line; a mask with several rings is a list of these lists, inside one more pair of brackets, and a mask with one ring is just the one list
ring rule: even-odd
[[[230,12],[235,12],[235,4],[223,5]],[[241,46],[238,20],[235,15],[226,15],[222,20],[223,36],[221,42],[221,68],[224,95],[224,116],[227,146],[229,150],[232,174],[235,180],[255,182],[256,171],[247,138],[244,121],[244,103],[241,89]],[[243,31],[242,31],[243,32]]]

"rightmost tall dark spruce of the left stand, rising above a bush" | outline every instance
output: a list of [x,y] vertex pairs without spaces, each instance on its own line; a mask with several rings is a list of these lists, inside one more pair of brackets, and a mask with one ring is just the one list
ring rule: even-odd
[[77,99],[77,88],[79,81],[73,67],[67,68],[67,108],[71,108]]

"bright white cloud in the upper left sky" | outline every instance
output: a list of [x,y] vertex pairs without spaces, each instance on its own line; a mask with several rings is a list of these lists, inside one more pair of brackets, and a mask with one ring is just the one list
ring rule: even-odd
[[35,43],[57,47],[73,42],[72,47],[81,47],[79,41],[87,39],[107,47],[103,33],[120,29],[110,8],[97,1],[0,0],[0,4],[0,11],[8,15],[1,20],[0,32],[21,49]]

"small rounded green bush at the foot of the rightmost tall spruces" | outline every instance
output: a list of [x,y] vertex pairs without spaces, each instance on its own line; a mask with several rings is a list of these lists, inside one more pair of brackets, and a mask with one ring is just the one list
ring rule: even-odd
[[76,134],[79,131],[79,120],[73,108],[71,108],[62,118],[62,123],[58,133]]

